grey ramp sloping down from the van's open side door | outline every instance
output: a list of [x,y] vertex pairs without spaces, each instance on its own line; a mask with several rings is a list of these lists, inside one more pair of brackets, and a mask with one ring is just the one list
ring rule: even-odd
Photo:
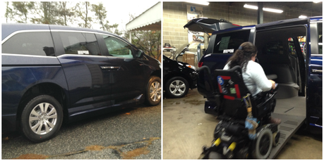
[[306,119],[306,98],[296,96],[293,98],[277,98],[275,111],[272,117],[280,118],[279,145],[272,147],[269,159],[274,158],[284,147],[287,141],[296,133]]

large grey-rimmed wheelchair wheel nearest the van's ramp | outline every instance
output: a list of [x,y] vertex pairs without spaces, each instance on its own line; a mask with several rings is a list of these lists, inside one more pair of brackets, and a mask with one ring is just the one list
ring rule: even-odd
[[268,128],[261,130],[254,143],[252,156],[256,159],[266,159],[272,149],[272,131]]

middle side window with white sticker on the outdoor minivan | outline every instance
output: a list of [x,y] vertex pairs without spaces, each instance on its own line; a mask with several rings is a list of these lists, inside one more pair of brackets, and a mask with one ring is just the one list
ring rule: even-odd
[[102,56],[95,34],[59,32],[66,54]]

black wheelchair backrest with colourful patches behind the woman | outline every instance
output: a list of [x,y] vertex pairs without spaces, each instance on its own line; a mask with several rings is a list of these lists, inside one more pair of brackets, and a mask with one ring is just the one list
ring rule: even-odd
[[247,112],[242,98],[249,91],[244,84],[240,66],[230,70],[214,70],[214,79],[217,81],[217,89],[222,95],[222,111],[224,115],[245,119]]

